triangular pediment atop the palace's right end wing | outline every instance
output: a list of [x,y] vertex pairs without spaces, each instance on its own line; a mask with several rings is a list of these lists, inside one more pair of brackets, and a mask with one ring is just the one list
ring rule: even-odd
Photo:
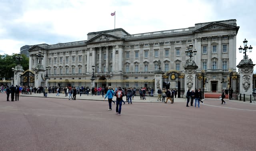
[[236,29],[238,31],[239,26],[234,26],[234,25],[228,25],[228,24],[223,24],[219,22],[213,22],[211,24],[208,24],[204,27],[201,27],[199,29],[196,29],[195,32],[198,31],[212,31],[212,30],[222,30],[222,29]]

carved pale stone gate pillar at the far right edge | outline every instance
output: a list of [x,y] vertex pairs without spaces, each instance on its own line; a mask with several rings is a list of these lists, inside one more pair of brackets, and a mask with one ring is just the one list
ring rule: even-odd
[[241,94],[250,95],[252,94],[252,77],[253,67],[255,64],[252,63],[251,59],[248,59],[248,55],[244,55],[244,59],[236,66],[238,67],[238,73],[240,75],[240,88]]

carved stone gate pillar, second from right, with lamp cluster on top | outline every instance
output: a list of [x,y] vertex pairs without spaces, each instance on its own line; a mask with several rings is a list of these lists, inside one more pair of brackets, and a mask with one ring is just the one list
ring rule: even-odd
[[192,59],[188,59],[186,60],[184,69],[185,69],[185,93],[183,97],[186,97],[188,89],[190,89],[190,91],[192,89],[195,90],[196,69],[198,69],[198,66]]

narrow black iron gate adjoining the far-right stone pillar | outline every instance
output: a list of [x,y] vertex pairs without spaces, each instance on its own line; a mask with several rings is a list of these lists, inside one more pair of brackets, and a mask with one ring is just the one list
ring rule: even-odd
[[230,75],[228,78],[229,78],[229,99],[238,100],[240,75],[236,72],[230,71]]

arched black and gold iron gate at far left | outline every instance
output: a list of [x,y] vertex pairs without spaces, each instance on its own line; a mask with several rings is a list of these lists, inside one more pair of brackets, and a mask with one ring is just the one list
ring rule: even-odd
[[34,86],[35,85],[35,74],[31,71],[25,71],[20,75],[20,85],[21,86]]

